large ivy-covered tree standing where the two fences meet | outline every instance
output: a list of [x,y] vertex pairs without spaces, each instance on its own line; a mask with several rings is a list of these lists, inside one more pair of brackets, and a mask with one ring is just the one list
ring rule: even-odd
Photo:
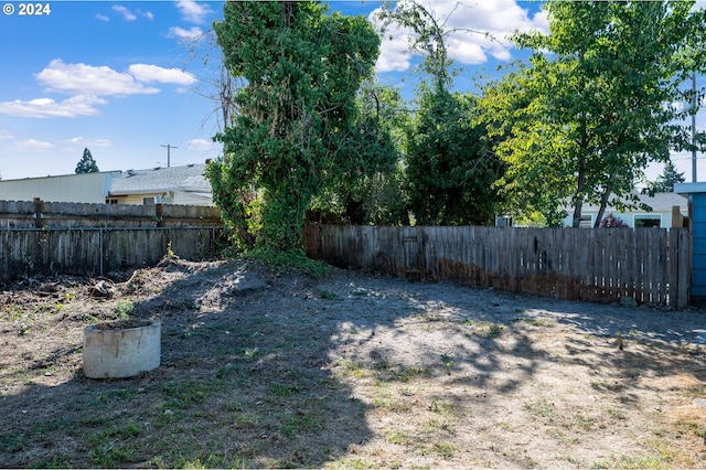
[[246,85],[207,169],[214,200],[240,242],[301,249],[304,212],[331,175],[364,165],[355,96],[379,38],[362,17],[319,2],[228,1],[214,24],[225,65]]

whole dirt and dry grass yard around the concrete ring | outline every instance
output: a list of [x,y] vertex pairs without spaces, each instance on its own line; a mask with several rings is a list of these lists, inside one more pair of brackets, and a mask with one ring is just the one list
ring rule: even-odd
[[[126,318],[161,366],[84,377]],[[0,332],[2,467],[706,467],[699,309],[168,259],[6,286]]]

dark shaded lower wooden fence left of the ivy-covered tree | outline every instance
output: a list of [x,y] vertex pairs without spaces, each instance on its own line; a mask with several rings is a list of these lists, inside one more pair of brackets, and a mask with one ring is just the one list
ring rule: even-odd
[[224,239],[221,226],[0,229],[0,282],[154,266],[168,249],[184,259],[212,258]]

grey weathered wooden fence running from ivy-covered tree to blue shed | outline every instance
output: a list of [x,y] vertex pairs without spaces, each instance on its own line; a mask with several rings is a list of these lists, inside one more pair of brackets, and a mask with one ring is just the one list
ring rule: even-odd
[[684,308],[685,228],[304,227],[307,254],[335,266],[588,301]]

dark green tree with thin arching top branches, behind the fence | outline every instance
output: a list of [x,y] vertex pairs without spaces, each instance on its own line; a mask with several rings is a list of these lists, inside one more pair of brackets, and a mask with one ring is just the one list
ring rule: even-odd
[[503,165],[484,126],[475,124],[475,98],[450,92],[456,71],[446,42],[459,30],[445,30],[446,21],[416,1],[386,3],[381,19],[385,28],[395,23],[411,31],[409,49],[424,56],[425,79],[417,93],[418,110],[407,128],[405,159],[406,192],[416,222],[491,223],[499,205],[493,182]]

